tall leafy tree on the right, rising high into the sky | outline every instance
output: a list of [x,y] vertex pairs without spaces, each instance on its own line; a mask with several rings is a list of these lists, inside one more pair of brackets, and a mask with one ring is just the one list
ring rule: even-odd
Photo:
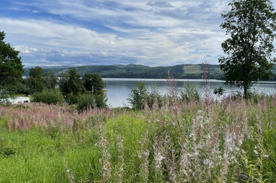
[[226,84],[243,87],[247,95],[252,82],[272,75],[276,12],[271,0],[234,0],[229,6],[231,10],[221,14],[221,28],[229,35],[221,46],[228,56],[219,63]]

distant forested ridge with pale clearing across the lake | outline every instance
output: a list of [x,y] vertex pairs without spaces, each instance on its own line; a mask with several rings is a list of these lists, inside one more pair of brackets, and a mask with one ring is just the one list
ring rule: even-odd
[[[211,65],[210,79],[225,80],[223,72],[219,65]],[[43,68],[43,67],[42,67]],[[163,79],[168,76],[168,71],[177,79],[201,79],[202,78],[202,64],[181,64],[175,66],[158,66],[149,67],[145,65],[83,65],[77,67],[45,67],[44,73],[53,70],[53,73],[60,76],[61,73],[67,73],[69,70],[75,68],[81,77],[85,73],[98,73],[102,78],[141,78],[141,79]],[[23,76],[29,75],[29,68],[24,68]],[[272,69],[274,76],[272,81],[276,81],[276,67]]]

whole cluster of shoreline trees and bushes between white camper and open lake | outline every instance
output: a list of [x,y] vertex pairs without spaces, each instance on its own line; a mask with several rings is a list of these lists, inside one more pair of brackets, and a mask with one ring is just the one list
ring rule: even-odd
[[[33,102],[56,104],[63,103],[66,99],[69,105],[75,104],[78,111],[86,109],[87,106],[107,107],[107,97],[101,92],[105,83],[98,74],[86,73],[81,79],[77,70],[72,69],[69,73],[62,73],[58,82],[58,77],[52,70],[43,75],[42,73],[43,69],[39,66],[29,69],[29,77],[24,80],[25,88],[24,85],[23,89],[18,85],[18,91],[23,90],[26,94],[33,94]],[[93,92],[88,91],[88,94],[83,94],[85,87]],[[13,93],[17,92],[15,87],[10,89]]]

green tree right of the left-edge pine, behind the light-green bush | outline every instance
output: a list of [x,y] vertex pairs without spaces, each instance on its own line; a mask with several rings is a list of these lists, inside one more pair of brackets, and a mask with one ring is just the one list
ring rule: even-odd
[[28,94],[42,92],[45,89],[45,80],[42,73],[43,69],[39,66],[29,69],[29,77],[24,80],[26,92]]

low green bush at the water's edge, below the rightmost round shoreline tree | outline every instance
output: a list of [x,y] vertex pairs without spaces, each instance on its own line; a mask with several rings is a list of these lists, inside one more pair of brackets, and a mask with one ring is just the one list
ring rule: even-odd
[[77,110],[84,110],[87,106],[94,107],[107,107],[107,97],[105,94],[91,95],[82,94],[77,97]]

